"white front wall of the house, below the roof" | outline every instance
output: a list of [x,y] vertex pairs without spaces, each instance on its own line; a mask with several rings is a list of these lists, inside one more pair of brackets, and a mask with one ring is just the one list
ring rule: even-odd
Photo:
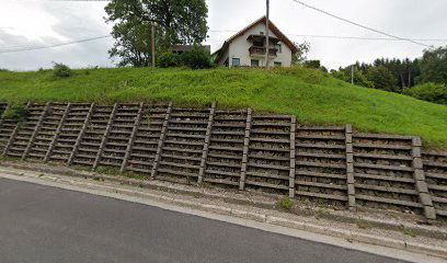
[[[229,64],[230,67],[232,66],[232,58],[240,58],[241,60],[241,66],[251,66],[251,59],[257,59],[260,60],[260,66],[265,66],[265,57],[264,58],[259,58],[259,57],[251,57],[249,48],[252,46],[252,43],[247,41],[247,38],[250,35],[260,35],[261,32],[264,32],[265,34],[265,25],[260,23],[255,25],[253,28],[248,31],[244,35],[236,38],[229,46],[228,48],[228,57],[229,57]],[[277,37],[272,31],[270,31],[270,36]],[[283,46],[283,52],[277,54],[277,57],[271,58],[270,59],[270,65],[273,66],[274,62],[282,62],[283,67],[290,67],[291,65],[291,50],[288,46],[286,46],[284,43],[279,42]],[[274,48],[273,45],[271,45],[271,48]],[[227,54],[224,56],[227,58]],[[222,61],[219,61],[220,64],[224,64],[225,58]]]

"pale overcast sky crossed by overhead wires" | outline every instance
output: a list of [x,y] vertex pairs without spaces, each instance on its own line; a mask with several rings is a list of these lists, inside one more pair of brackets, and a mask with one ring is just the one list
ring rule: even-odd
[[[360,24],[428,45],[447,45],[446,0],[302,0]],[[213,52],[225,39],[261,18],[265,0],[207,0],[209,8],[208,44]],[[0,68],[35,70],[50,67],[51,61],[74,68],[113,67],[107,49],[112,38],[103,38],[50,49],[2,53],[21,47],[56,45],[107,35],[104,22],[106,2],[58,2],[49,0],[0,0]],[[370,62],[378,57],[415,58],[423,46],[408,42],[319,38],[300,35],[383,37],[334,20],[293,0],[271,0],[271,20],[290,39],[310,43],[309,58],[320,59],[329,68],[356,60]],[[219,31],[219,32],[215,32]],[[225,31],[225,32],[221,32]]]

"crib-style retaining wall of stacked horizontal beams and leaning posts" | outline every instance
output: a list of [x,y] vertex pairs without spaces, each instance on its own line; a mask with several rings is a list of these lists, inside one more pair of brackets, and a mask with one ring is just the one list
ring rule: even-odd
[[25,122],[0,121],[3,157],[447,217],[447,153],[423,152],[419,137],[303,126],[294,116],[215,103],[26,108]]

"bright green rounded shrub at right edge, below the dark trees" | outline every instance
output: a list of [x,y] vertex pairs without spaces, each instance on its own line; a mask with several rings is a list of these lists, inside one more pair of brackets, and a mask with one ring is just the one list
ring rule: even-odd
[[403,91],[405,95],[419,100],[447,105],[447,85],[433,82],[415,85]]

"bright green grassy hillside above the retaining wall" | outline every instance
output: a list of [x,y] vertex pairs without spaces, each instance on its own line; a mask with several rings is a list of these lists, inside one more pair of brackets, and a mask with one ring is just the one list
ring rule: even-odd
[[68,79],[50,71],[0,72],[0,101],[168,101],[295,114],[300,123],[422,136],[447,148],[447,106],[351,85],[309,69],[90,69]]

